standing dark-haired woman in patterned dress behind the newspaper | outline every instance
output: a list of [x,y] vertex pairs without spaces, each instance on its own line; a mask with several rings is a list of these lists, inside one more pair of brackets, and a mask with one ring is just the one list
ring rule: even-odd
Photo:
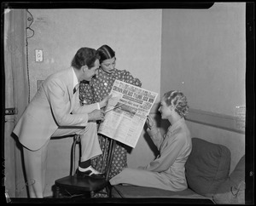
[[[138,87],[142,86],[141,81],[136,77],[132,77],[130,72],[115,68],[115,52],[108,45],[102,45],[97,51],[101,56],[101,66],[96,77],[93,78],[90,83],[80,83],[80,100],[82,104],[91,104],[102,100],[110,93],[115,79],[124,81],[125,83],[131,83]],[[102,134],[98,134],[98,137],[103,152],[108,149],[108,145],[105,146],[105,140],[107,140],[108,137]],[[118,141],[116,142],[109,178],[118,175],[123,168],[127,167],[127,148],[128,147],[124,144]],[[107,157],[100,158],[103,158],[102,163],[106,163],[105,160]],[[98,171],[106,172],[106,165],[96,165],[96,161],[92,161],[92,165]]]

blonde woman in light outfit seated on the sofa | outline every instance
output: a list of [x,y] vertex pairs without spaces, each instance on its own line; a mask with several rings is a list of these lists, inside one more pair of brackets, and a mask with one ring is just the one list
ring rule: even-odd
[[109,180],[111,185],[129,184],[148,186],[169,191],[182,191],[188,187],[185,163],[192,150],[191,136],[185,123],[189,106],[186,97],[179,91],[169,91],[160,101],[162,119],[171,126],[162,136],[153,118],[148,116],[147,132],[159,150],[159,155],[147,166],[138,169],[125,168]]

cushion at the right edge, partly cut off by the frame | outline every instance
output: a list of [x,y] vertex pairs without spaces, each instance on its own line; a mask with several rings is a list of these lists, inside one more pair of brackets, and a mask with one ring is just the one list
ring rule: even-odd
[[245,203],[245,156],[213,196],[215,203]]

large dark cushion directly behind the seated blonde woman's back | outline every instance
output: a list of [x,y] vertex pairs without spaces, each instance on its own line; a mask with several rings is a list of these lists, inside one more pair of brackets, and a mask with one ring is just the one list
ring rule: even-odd
[[229,177],[230,150],[226,146],[194,137],[185,169],[189,188],[212,197]]

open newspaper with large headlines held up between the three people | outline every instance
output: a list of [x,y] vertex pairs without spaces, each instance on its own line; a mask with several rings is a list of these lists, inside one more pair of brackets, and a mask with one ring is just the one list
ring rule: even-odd
[[98,133],[135,147],[157,93],[115,80]]

